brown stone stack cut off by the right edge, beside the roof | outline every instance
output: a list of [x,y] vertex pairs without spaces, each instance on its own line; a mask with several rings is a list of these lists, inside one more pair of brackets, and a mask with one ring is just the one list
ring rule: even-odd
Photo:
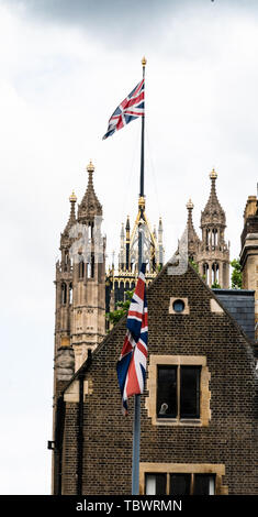
[[240,265],[243,289],[255,290],[256,339],[258,339],[258,197],[249,196],[244,212]]

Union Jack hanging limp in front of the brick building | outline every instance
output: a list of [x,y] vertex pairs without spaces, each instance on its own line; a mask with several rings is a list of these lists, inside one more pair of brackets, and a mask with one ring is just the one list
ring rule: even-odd
[[116,371],[122,395],[123,414],[127,399],[144,391],[147,365],[148,309],[145,286],[146,264],[142,265],[127,315],[127,331]]

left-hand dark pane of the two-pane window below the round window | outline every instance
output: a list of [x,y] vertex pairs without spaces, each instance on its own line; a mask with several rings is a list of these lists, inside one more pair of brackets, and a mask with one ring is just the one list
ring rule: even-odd
[[177,366],[158,367],[157,416],[177,416]]

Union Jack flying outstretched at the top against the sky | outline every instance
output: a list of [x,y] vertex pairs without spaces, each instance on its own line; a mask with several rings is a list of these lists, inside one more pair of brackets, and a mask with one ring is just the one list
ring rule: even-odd
[[108,131],[102,140],[111,136],[124,125],[144,116],[144,79],[121,102],[109,120]]

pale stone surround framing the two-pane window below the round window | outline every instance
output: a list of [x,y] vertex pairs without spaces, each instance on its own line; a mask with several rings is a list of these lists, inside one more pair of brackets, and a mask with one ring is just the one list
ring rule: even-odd
[[[200,418],[197,419],[180,419],[178,418],[158,418],[157,417],[157,371],[161,365],[186,365],[186,366],[201,366],[200,378]],[[145,408],[147,409],[148,417],[152,418],[153,426],[197,426],[207,427],[211,420],[211,392],[209,389],[209,382],[211,374],[206,366],[206,358],[204,355],[149,355],[148,365],[148,380],[147,391],[148,396],[145,400]]]

